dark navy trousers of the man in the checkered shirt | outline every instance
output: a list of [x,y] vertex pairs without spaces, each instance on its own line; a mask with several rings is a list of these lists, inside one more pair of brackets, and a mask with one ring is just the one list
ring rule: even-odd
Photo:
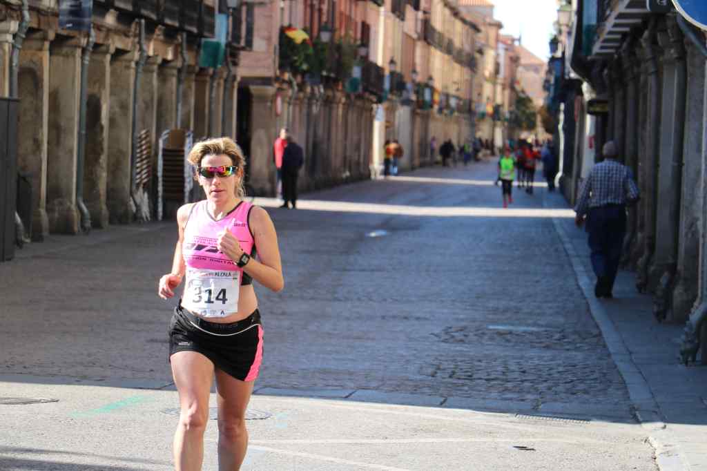
[[626,207],[610,205],[589,210],[587,217],[592,268],[597,279],[604,279],[609,292],[619,272],[621,250],[626,234]]

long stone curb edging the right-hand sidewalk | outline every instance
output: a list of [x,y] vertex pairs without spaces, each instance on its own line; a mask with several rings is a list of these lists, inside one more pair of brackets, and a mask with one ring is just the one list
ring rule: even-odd
[[648,382],[646,382],[640,369],[633,362],[631,352],[626,348],[623,337],[617,331],[612,319],[609,318],[604,306],[594,296],[592,277],[590,277],[587,269],[582,264],[580,255],[575,251],[572,241],[561,226],[560,221],[553,218],[552,223],[572,264],[572,269],[577,277],[577,284],[587,300],[592,318],[599,326],[604,342],[606,342],[609,349],[609,354],[611,354],[621,377],[624,378],[636,419],[638,419],[641,427],[648,431],[647,441],[653,447],[655,463],[658,465],[658,469],[660,471],[687,470],[684,454],[679,446],[672,444],[677,442],[672,431],[667,428],[667,425],[662,420],[660,407],[655,402],[655,397],[650,390],[650,386],[648,386]]

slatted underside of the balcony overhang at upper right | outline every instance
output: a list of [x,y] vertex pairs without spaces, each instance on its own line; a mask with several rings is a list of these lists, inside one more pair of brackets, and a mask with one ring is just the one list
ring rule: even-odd
[[[606,12],[604,23],[597,30],[597,40],[592,49],[594,59],[616,54],[621,46],[621,37],[650,15],[645,0],[618,0],[612,3],[614,8]],[[602,21],[602,18],[599,20]]]

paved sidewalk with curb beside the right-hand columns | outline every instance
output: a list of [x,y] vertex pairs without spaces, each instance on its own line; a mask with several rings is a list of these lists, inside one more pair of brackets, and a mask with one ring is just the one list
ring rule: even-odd
[[[567,207],[559,193],[545,206]],[[658,324],[650,295],[635,287],[635,274],[622,270],[614,299],[594,298],[595,277],[587,234],[571,219],[555,219],[590,310],[602,330],[641,424],[650,433],[661,470],[707,470],[707,368],[679,359],[683,325]]]

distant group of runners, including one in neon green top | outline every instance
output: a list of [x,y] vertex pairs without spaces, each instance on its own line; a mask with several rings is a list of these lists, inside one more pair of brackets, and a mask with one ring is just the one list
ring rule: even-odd
[[547,181],[549,191],[555,190],[555,175],[557,174],[556,158],[552,142],[539,146],[539,142],[518,141],[509,143],[501,152],[498,160],[498,178],[496,185],[501,183],[503,207],[513,204],[513,182],[518,180],[518,188],[525,188],[527,194],[533,194],[535,170],[538,161],[543,163],[543,176]]

